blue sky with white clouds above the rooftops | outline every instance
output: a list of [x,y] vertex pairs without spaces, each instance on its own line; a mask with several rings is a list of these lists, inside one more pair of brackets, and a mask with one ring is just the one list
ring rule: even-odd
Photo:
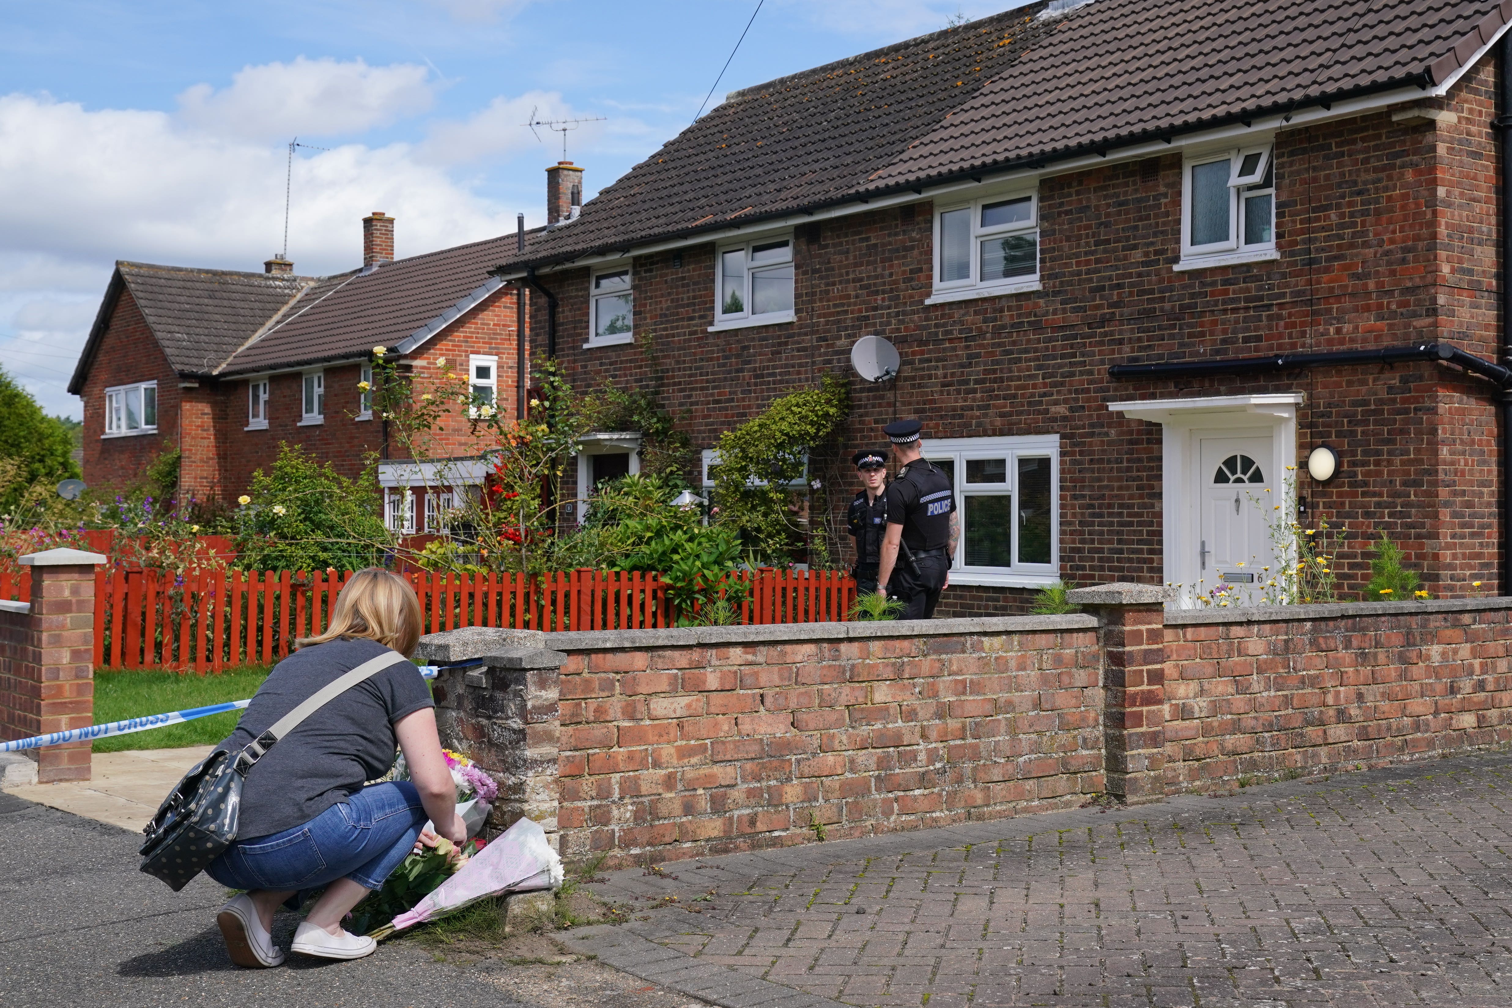
[[[0,366],[48,413],[118,258],[299,274],[544,224],[567,135],[585,195],[711,98],[1012,0],[0,0]],[[537,139],[537,135],[540,139]],[[298,138],[292,172],[289,142]]]

